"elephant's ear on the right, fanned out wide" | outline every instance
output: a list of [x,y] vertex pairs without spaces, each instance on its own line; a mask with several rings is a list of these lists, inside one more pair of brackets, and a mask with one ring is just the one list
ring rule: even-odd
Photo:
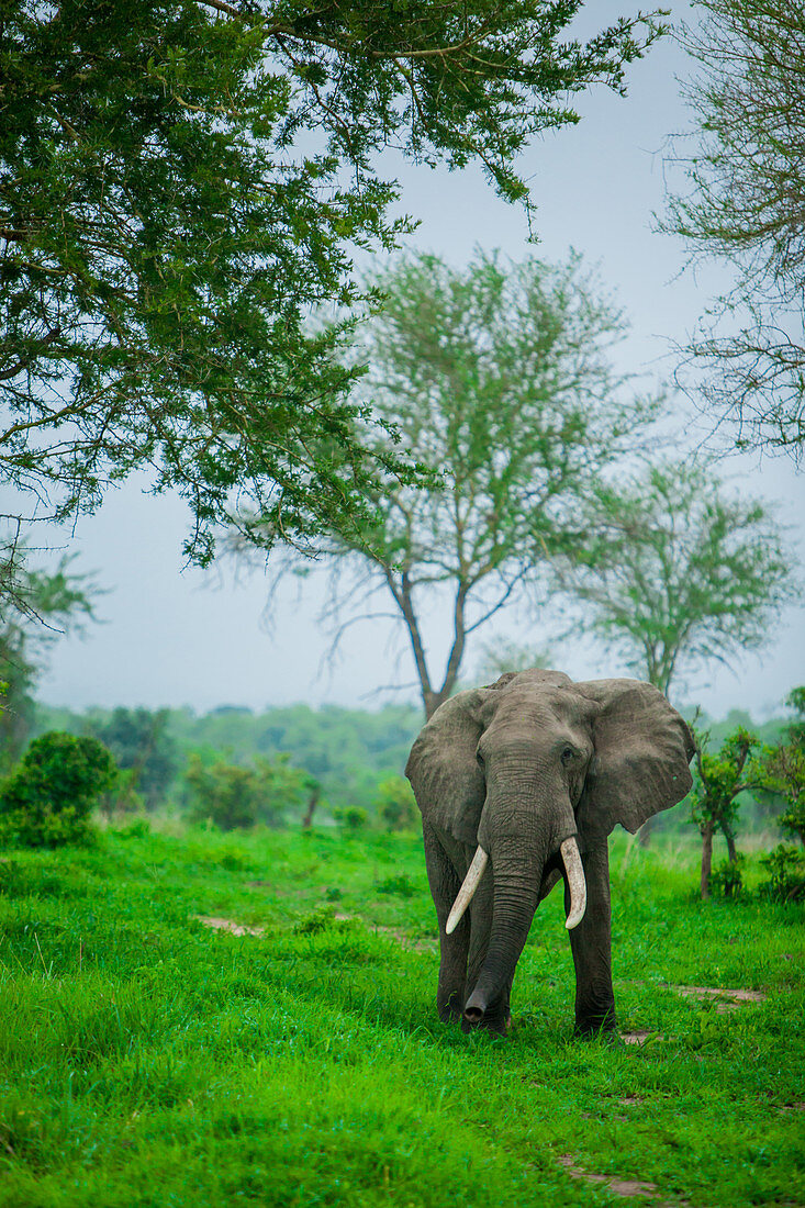
[[690,730],[651,684],[590,680],[574,684],[573,691],[600,705],[577,811],[579,831],[587,842],[609,835],[616,823],[635,834],[690,791]]

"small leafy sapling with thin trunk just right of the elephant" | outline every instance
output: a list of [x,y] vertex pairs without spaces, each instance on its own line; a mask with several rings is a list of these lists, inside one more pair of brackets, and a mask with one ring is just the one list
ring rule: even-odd
[[747,789],[757,786],[752,765],[747,762],[758,743],[754,734],[739,727],[728,736],[717,755],[707,750],[707,734],[697,734],[694,731],[696,774],[690,791],[690,817],[701,835],[702,901],[710,898],[713,835],[719,829],[724,832],[730,864],[736,864],[737,798]]

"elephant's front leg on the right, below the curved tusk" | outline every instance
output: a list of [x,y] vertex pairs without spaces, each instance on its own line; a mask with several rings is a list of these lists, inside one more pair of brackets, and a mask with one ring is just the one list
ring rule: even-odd
[[[575,1034],[615,1030],[612,988],[612,912],[609,906],[609,849],[607,840],[583,856],[587,908],[569,933],[575,966]],[[564,908],[569,893],[564,885]]]

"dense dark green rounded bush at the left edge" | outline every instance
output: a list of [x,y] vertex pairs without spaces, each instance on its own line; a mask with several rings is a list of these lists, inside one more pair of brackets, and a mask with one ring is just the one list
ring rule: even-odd
[[95,738],[41,734],[0,783],[0,837],[24,847],[89,842],[89,814],[116,778],[111,754]]

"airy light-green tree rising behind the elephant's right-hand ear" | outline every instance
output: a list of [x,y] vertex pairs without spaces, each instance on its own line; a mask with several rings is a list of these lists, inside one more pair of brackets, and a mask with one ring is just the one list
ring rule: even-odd
[[730,495],[713,466],[648,465],[598,482],[586,541],[557,563],[581,626],[666,696],[682,672],[766,640],[795,594],[792,556],[763,504]]

